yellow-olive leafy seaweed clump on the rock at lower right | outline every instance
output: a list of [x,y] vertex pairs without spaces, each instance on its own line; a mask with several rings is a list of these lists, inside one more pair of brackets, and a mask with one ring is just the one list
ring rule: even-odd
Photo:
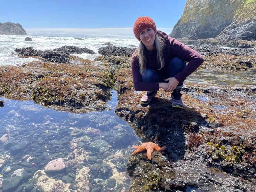
[[241,156],[244,153],[244,145],[234,146],[231,148],[231,155],[227,155],[226,151],[227,148],[225,146],[220,146],[218,144],[213,144],[212,141],[207,143],[209,146],[212,146],[212,151],[207,151],[207,154],[212,154],[213,159],[225,159],[226,161],[231,163],[236,163],[236,160],[240,163],[241,162]]

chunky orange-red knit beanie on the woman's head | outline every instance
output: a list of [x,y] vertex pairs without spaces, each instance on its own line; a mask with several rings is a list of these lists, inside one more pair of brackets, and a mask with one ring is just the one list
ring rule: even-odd
[[133,33],[135,37],[140,41],[140,31],[146,28],[152,28],[156,31],[156,24],[150,17],[139,17],[133,26]]

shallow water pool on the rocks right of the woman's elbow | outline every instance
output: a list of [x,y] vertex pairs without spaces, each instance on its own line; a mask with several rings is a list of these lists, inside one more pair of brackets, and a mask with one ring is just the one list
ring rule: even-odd
[[256,85],[256,69],[251,71],[223,72],[200,70],[188,76],[187,82],[218,85]]

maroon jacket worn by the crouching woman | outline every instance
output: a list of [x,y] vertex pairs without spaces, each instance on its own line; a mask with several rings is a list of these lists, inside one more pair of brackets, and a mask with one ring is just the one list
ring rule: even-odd
[[[164,67],[160,70],[160,66],[156,61],[156,51],[149,52],[146,51],[147,69],[153,69],[157,71],[160,76],[164,76],[167,71],[168,64],[173,57],[179,57],[182,60],[188,61],[188,65],[174,77],[179,81],[183,82],[187,76],[193,73],[203,62],[204,58],[201,54],[195,50],[189,48],[188,46],[180,43],[172,37],[168,37],[163,31],[156,31],[157,34],[162,36],[165,41],[165,47],[163,50],[164,56]],[[135,50],[133,55],[138,51]],[[138,56],[132,57],[132,80],[133,86],[136,91],[158,91],[158,82],[143,82],[140,74],[140,65]]]

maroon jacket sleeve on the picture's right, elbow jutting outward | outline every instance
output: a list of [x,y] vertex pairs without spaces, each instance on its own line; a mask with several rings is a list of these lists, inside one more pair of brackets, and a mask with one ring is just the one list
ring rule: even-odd
[[204,58],[200,53],[179,41],[171,37],[169,37],[169,39],[171,43],[170,54],[188,62],[188,65],[180,71],[180,73],[174,76],[179,82],[183,82],[204,62]]

